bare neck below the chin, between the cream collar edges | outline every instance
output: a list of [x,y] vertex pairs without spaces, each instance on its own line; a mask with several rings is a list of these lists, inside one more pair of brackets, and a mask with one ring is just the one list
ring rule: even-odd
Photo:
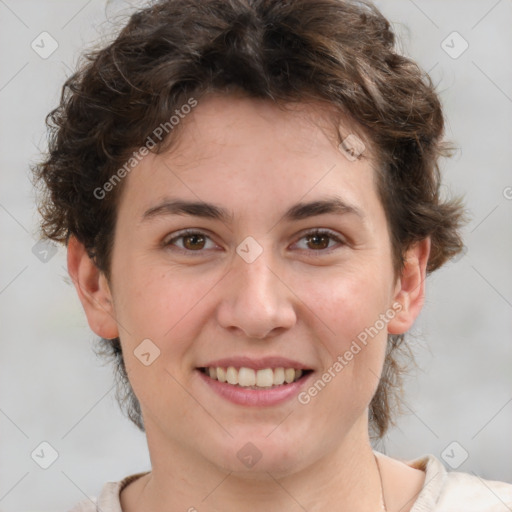
[[380,475],[367,427],[354,426],[338,443],[326,440],[327,449],[316,460],[297,471],[298,463],[290,464],[279,473],[255,471],[257,465],[249,473],[222,470],[181,443],[168,442],[162,450],[162,441],[148,435],[153,469],[123,491],[123,511],[381,510]]

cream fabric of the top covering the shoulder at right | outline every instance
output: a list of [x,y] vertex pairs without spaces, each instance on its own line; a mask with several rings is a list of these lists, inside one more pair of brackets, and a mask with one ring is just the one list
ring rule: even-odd
[[477,475],[446,471],[434,455],[407,462],[426,473],[425,483],[411,512],[510,512],[512,484]]

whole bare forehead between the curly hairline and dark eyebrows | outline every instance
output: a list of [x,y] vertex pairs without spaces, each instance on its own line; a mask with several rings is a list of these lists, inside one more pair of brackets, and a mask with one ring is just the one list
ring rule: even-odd
[[[167,196],[272,209],[336,193],[348,204],[374,193],[369,152],[348,159],[332,111],[321,104],[209,95],[180,120],[169,150],[128,176],[121,203],[147,210]],[[348,124],[341,127],[350,135]],[[356,137],[355,135],[352,135]],[[361,208],[362,209],[362,208]]]

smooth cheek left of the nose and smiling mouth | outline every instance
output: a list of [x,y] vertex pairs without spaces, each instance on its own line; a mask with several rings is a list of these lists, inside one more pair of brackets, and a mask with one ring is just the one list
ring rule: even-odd
[[[213,282],[205,279],[192,285],[183,273],[171,275],[169,270],[141,261],[125,261],[118,269],[119,275],[124,272],[130,276],[120,281],[115,291],[116,318],[124,327],[121,343],[132,388],[149,416],[155,411],[168,411],[163,415],[171,424],[173,411],[179,410],[186,421],[195,413],[197,404],[190,401],[182,385],[191,364],[191,340],[197,338],[201,328],[197,318],[200,301]],[[138,347],[146,339],[158,347],[157,357],[147,366],[137,357],[141,352]]]

